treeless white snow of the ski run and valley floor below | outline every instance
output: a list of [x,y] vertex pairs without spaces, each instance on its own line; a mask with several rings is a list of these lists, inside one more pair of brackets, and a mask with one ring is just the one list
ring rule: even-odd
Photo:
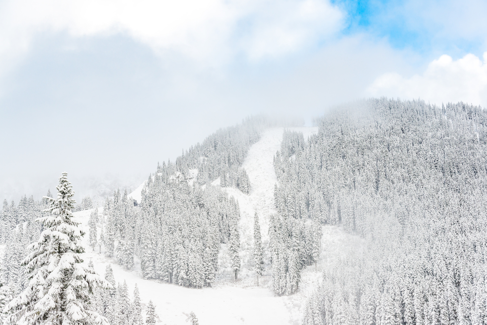
[[[304,138],[317,132],[315,127],[291,128],[302,131]],[[316,288],[321,280],[322,271],[333,267],[337,259],[350,252],[361,252],[363,241],[357,236],[346,234],[338,226],[324,226],[321,240],[321,256],[317,266],[302,271],[299,291],[288,297],[275,296],[271,289],[271,266],[268,254],[265,259],[265,271],[260,286],[257,287],[255,272],[252,271],[252,245],[254,213],[260,217],[262,244],[268,250],[269,217],[275,213],[274,184],[277,182],[273,166],[273,157],[280,150],[283,128],[272,128],[263,133],[261,140],[252,145],[243,167],[249,176],[251,192],[244,195],[238,189],[224,188],[229,195],[239,201],[241,210],[240,235],[242,271],[239,282],[233,280],[230,259],[226,245],[220,253],[220,270],[213,288],[189,289],[172,284],[145,280],[140,272],[140,263],[135,263],[133,271],[124,270],[111,258],[107,258],[98,249],[92,252],[88,247],[88,235],[83,238],[86,251],[85,262],[94,262],[95,270],[104,275],[105,268],[112,264],[115,281],[127,281],[132,293],[137,284],[143,303],[143,314],[149,300],[152,300],[158,316],[158,324],[188,324],[187,315],[194,312],[200,325],[299,325],[306,297]],[[213,185],[219,186],[219,180]],[[133,198],[140,196],[140,190],[133,193]],[[88,218],[93,210],[75,213],[75,218],[88,234]]]

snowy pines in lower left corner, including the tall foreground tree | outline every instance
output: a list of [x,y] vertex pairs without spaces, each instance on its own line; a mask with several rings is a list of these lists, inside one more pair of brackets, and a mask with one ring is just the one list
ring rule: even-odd
[[[56,199],[48,192],[39,203],[31,199],[26,205],[24,197],[18,208],[4,205],[1,216],[8,221],[3,223],[8,225],[4,228],[8,240],[0,276],[0,322],[144,324],[138,289],[132,303],[125,283],[115,288],[110,266],[104,280],[92,263],[83,263],[80,239],[85,234],[72,219],[74,192],[66,173],[57,191]],[[23,211],[25,218],[13,217]],[[155,318],[150,302],[145,324],[155,324]]]

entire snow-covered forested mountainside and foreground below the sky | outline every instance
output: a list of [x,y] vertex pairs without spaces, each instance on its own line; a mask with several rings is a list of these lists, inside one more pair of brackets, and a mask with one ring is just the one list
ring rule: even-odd
[[67,173],[4,200],[1,322],[487,325],[486,110],[382,97],[313,124],[246,118],[103,201]]

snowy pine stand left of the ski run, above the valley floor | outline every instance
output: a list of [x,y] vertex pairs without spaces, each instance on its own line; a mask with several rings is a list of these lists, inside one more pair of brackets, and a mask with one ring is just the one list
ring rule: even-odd
[[130,270],[140,259],[147,279],[180,286],[211,286],[218,271],[220,244],[228,243],[235,277],[240,270],[238,202],[213,186],[154,175],[135,207],[115,192],[104,208],[105,252]]

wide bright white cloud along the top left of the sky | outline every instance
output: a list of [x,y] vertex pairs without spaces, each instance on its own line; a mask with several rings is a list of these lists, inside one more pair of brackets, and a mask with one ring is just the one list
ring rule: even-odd
[[126,33],[158,53],[210,65],[237,52],[259,59],[332,35],[342,16],[329,0],[7,0],[0,4],[0,62],[26,53],[36,34],[59,31]]

